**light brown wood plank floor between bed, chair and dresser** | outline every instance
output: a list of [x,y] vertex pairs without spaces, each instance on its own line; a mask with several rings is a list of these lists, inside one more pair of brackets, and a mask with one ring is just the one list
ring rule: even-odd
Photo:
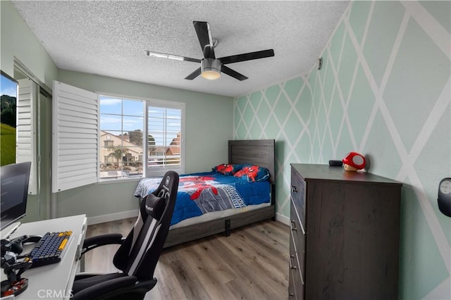
[[[87,237],[109,232],[127,235],[135,219],[90,225]],[[289,227],[266,220],[163,249],[156,287],[145,299],[288,299]],[[86,254],[86,271],[116,271],[118,246]]]

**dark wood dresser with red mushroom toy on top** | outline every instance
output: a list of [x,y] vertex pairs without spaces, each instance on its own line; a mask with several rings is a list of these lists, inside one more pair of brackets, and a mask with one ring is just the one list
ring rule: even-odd
[[401,187],[292,164],[289,299],[397,299]]

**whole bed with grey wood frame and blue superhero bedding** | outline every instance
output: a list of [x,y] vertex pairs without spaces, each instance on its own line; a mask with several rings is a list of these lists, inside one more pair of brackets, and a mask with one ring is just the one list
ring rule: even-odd
[[[241,165],[257,165],[261,167],[259,169],[267,170],[267,176],[259,177],[266,180],[249,183],[230,173],[226,172],[224,175],[216,170],[180,175],[176,207],[164,246],[175,246],[221,232],[228,236],[230,230],[236,227],[268,218],[274,219],[274,148],[273,139],[228,142],[228,164],[234,165],[237,170]],[[249,178],[249,174],[247,176]],[[158,186],[160,180],[161,178],[140,180],[135,196],[142,199]],[[215,196],[221,201],[206,201],[209,196]]]

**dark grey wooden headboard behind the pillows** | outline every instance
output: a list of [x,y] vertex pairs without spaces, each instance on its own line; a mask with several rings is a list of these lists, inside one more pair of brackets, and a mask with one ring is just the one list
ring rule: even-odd
[[228,141],[228,163],[251,163],[269,170],[269,181],[276,184],[274,139]]

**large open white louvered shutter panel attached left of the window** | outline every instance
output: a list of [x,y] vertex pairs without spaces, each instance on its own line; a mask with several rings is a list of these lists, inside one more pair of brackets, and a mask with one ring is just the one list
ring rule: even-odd
[[54,81],[52,105],[52,192],[97,182],[97,94]]

